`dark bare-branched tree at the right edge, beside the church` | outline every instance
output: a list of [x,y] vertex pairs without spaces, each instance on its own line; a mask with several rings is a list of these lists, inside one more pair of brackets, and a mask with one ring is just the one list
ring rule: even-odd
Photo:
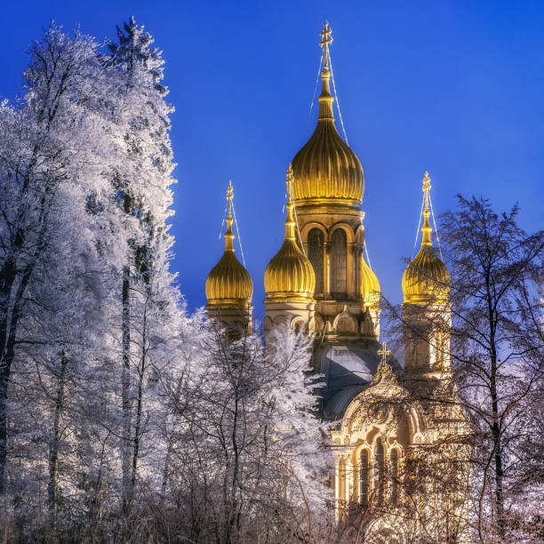
[[542,531],[540,516],[518,500],[542,490],[541,481],[524,481],[539,464],[538,450],[526,456],[524,448],[538,436],[544,385],[544,232],[526,234],[517,214],[517,206],[498,214],[484,199],[459,196],[458,210],[441,217],[452,263],[452,360],[476,435],[481,540],[525,540],[531,524]]

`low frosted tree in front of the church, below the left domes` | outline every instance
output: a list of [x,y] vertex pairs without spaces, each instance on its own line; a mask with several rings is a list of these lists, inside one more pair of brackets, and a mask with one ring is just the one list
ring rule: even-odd
[[204,332],[170,437],[164,523],[195,541],[305,539],[328,495],[311,339],[285,328],[265,348]]

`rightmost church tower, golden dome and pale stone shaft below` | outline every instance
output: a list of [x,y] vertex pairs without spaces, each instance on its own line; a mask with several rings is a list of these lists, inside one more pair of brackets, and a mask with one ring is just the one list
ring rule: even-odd
[[430,178],[425,172],[421,247],[403,276],[404,371],[441,374],[451,372],[451,278],[431,239],[430,188]]

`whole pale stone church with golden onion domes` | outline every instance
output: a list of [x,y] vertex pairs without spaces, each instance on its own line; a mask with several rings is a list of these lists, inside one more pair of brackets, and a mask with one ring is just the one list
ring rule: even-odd
[[[380,283],[364,259],[364,172],[335,126],[331,44],[325,22],[316,129],[289,165],[284,243],[264,276],[265,332],[290,324],[314,335],[339,523],[368,542],[469,542],[470,428],[452,380],[451,279],[433,247],[431,180],[425,172],[420,250],[402,277],[399,364],[380,344]],[[225,252],[206,280],[206,310],[251,333],[252,278],[234,251],[232,196],[229,185]]]

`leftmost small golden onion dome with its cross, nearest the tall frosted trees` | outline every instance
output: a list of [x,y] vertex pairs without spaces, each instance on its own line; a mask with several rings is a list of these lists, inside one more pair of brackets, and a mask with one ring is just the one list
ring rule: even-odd
[[253,282],[249,272],[236,259],[234,234],[232,232],[232,183],[228,182],[227,231],[225,232],[225,252],[212,268],[206,279],[206,299],[208,306],[241,306],[251,304]]

